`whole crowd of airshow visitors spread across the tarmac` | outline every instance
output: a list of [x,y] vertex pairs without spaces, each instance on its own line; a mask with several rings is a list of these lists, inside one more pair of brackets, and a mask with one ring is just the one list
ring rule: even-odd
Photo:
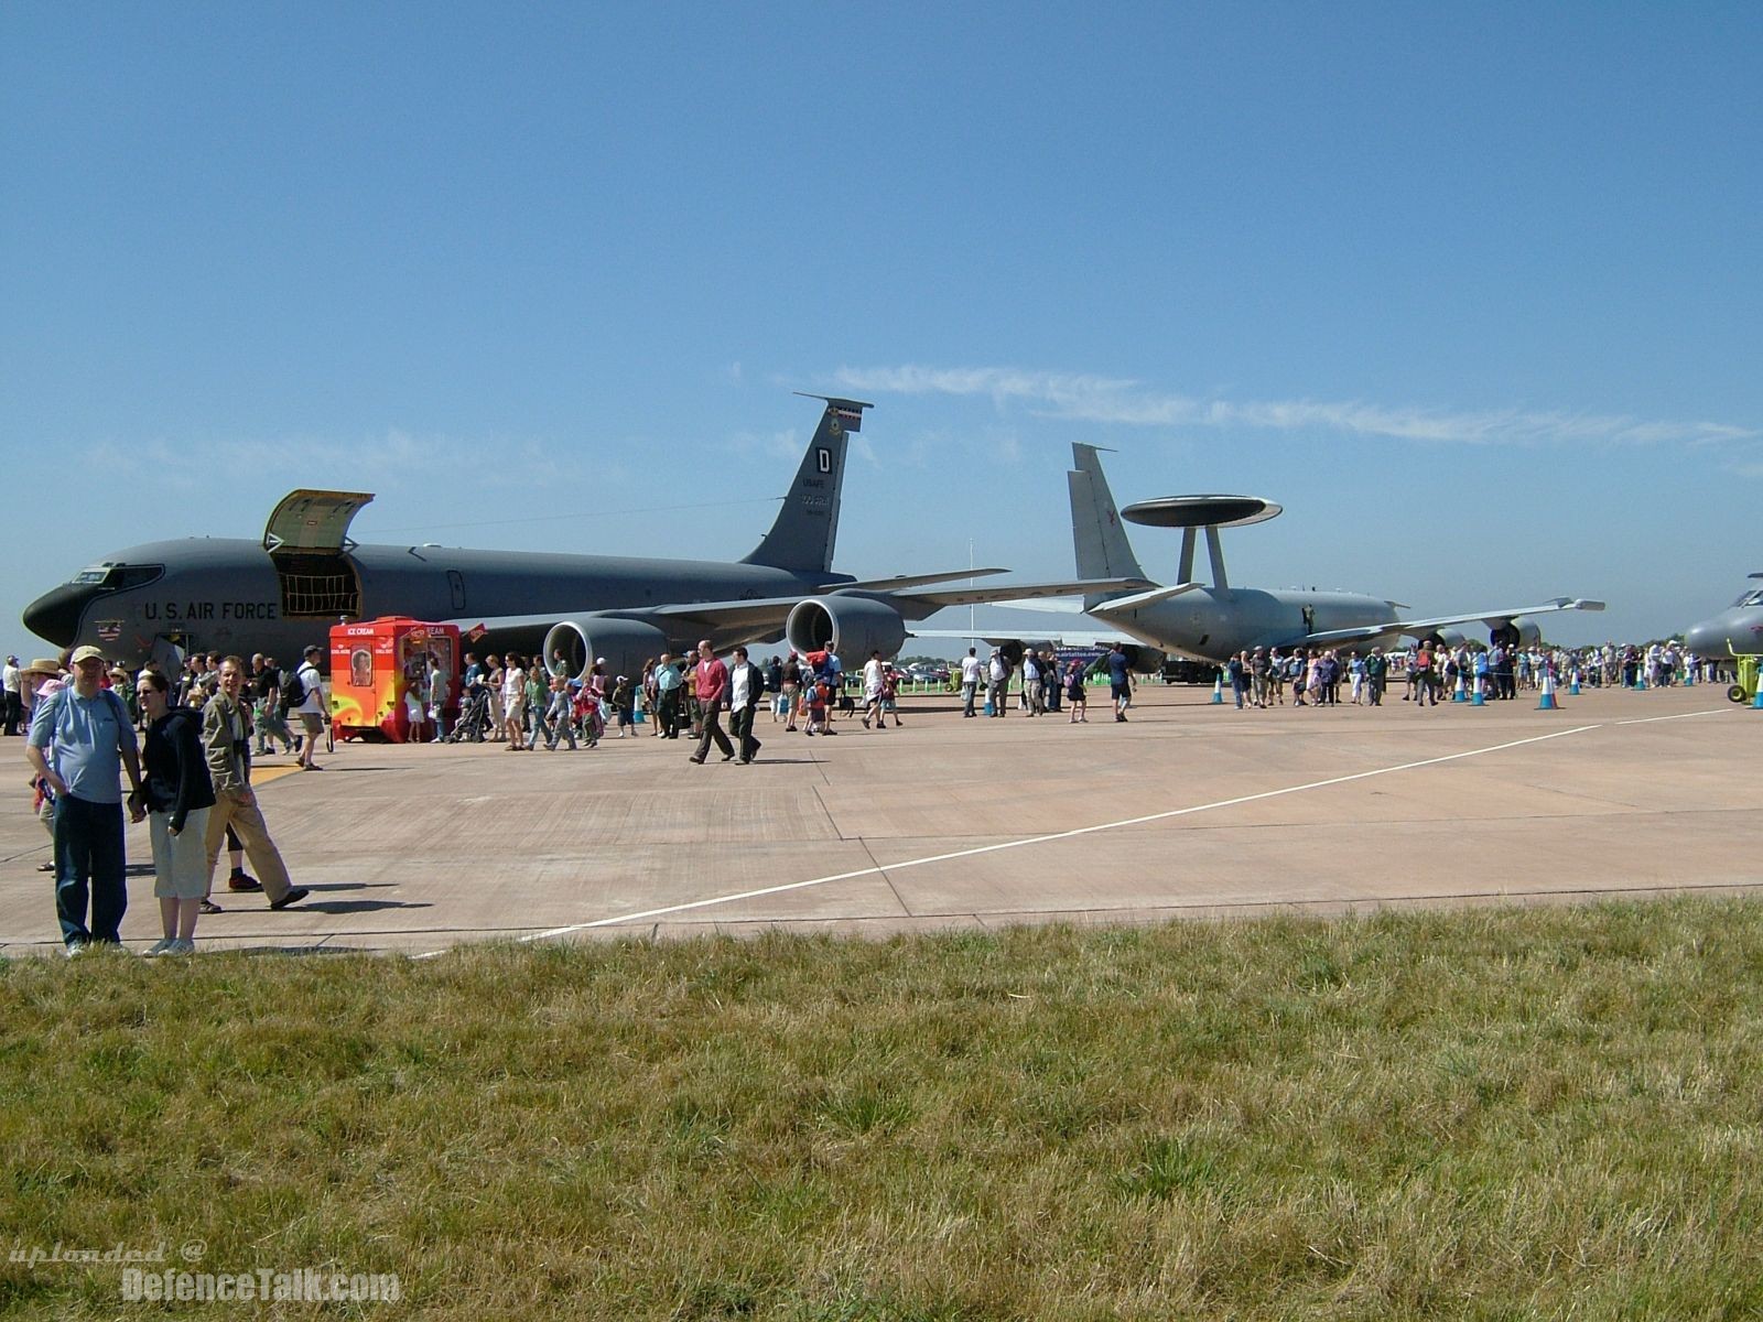
[[[148,663],[138,673],[109,666],[97,647],[74,649],[65,659],[5,663],[4,728],[25,735],[33,811],[53,843],[55,904],[69,955],[120,945],[127,910],[123,816],[148,821],[153,851],[153,894],[160,904],[162,938],[146,954],[194,950],[203,913],[219,913],[213,878],[222,844],[231,871],[229,892],[261,892],[272,910],[286,910],[310,892],[294,887],[270,837],[250,788],[254,756],[273,756],[277,744],[300,770],[323,770],[319,742],[328,739],[330,712],[319,647],[307,647],[293,670],[275,657],[192,654],[176,675]],[[746,647],[730,661],[709,640],[693,656],[661,654],[635,677],[606,675],[596,659],[578,679],[564,673],[562,657],[547,666],[517,654],[464,657],[464,716],[446,726],[450,677],[437,666],[423,677],[411,709],[416,739],[478,737],[510,751],[594,747],[608,728],[617,737],[696,740],[691,761],[702,765],[714,747],[723,761],[753,763],[762,749],[755,728],[762,712],[786,733],[834,735],[841,714],[866,732],[901,728],[899,672],[880,650],[871,652],[850,693],[834,652],[790,652],[765,665]],[[1220,672],[1220,691],[1238,709],[1382,705],[1393,687],[1402,702],[1437,705],[1458,693],[1488,702],[1513,700],[1544,682],[1599,687],[1670,687],[1722,682],[1726,659],[1698,657],[1677,643],[1587,649],[1539,645],[1435,645],[1405,650],[1246,649]],[[993,649],[980,659],[970,647],[950,677],[963,717],[1003,717],[1010,698],[1024,716],[1067,712],[1088,721],[1090,684],[1107,682],[1114,721],[1132,710],[1134,675],[1127,652],[1114,645],[1097,657],[1063,663],[1049,649],[1014,657]],[[413,686],[414,691],[414,686]],[[860,716],[859,716],[860,710]],[[728,730],[723,728],[726,712]],[[298,726],[298,728],[296,728]],[[127,779],[129,793],[122,783]],[[256,876],[245,869],[245,860]],[[261,878],[261,880],[259,880]]]

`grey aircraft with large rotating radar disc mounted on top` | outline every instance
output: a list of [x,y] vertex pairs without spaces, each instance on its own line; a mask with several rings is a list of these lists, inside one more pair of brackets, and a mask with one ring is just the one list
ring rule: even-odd
[[[1097,446],[1074,444],[1075,469],[1067,472],[1072,501],[1072,541],[1077,546],[1081,576],[1118,575],[1142,578],[1139,561],[1127,541],[1121,518],[1157,527],[1179,527],[1179,582],[1171,587],[1116,594],[1104,589],[1084,598],[1084,612],[1141,643],[1178,652],[1199,661],[1222,663],[1245,649],[1336,647],[1370,649],[1402,636],[1463,640],[1460,624],[1483,622],[1490,638],[1504,643],[1536,642],[1532,615],[1557,610],[1603,610],[1603,601],[1557,598],[1537,606],[1514,610],[1477,610],[1467,615],[1435,615],[1423,620],[1398,619],[1400,603],[1356,592],[1268,592],[1255,587],[1231,587],[1225,576],[1218,529],[1261,524],[1280,513],[1280,506],[1253,495],[1172,495],[1114,508]],[[1199,531],[1206,532],[1211,562],[1211,587],[1194,582],[1194,555]],[[1060,642],[1093,642],[1109,635],[1082,638],[1060,633]]]

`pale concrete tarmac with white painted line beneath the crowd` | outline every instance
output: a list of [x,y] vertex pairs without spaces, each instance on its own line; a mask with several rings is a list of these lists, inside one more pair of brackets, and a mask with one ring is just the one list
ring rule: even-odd
[[[1023,922],[1137,924],[1271,911],[1560,902],[1763,887],[1763,712],[1715,686],[1587,689],[1416,710],[1236,710],[1105,686],[1067,712],[785,733],[751,767],[608,739],[577,753],[344,744],[317,774],[259,763],[259,802],[305,902],[224,890],[199,950],[432,955],[472,941],[885,936]],[[60,954],[49,843],[0,802],[0,950]],[[146,827],[129,828],[123,940],[159,938]]]

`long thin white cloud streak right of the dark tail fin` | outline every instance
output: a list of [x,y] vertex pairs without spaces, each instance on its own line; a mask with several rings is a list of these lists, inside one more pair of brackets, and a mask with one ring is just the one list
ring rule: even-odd
[[1128,427],[1215,427],[1245,430],[1333,430],[1440,444],[1698,444],[1745,441],[1756,428],[1712,421],[1645,420],[1631,414],[1490,409],[1465,412],[1363,400],[1195,398],[1144,388],[1123,377],[1031,372],[1008,367],[841,367],[843,390],[894,395],[986,397],[1005,411]]

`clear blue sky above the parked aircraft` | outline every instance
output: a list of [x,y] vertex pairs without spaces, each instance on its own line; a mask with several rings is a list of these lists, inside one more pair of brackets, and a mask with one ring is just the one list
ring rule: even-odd
[[739,557],[792,390],[876,404],[862,576],[1068,576],[1086,441],[1282,502],[1238,583],[1680,629],[1763,569],[1759,102],[1754,4],[7,4],[0,645],[300,485]]

